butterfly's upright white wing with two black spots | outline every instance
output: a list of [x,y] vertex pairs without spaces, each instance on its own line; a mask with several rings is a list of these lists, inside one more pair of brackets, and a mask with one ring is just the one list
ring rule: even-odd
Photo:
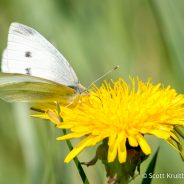
[[78,78],[64,56],[34,29],[12,23],[8,46],[3,53],[6,73],[20,73],[77,87]]

